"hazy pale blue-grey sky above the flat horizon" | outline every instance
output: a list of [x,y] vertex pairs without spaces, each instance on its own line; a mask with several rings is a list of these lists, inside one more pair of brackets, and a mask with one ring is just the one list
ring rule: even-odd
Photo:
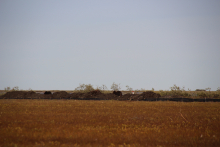
[[0,89],[220,87],[219,0],[1,0]]

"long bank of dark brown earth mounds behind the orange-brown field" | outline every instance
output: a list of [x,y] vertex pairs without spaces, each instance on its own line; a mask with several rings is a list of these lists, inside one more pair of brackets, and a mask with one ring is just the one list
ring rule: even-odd
[[130,100],[130,101],[182,101],[182,102],[220,102],[220,99],[193,99],[193,98],[165,98],[152,91],[142,94],[125,94],[117,96],[113,93],[104,94],[101,91],[91,91],[87,93],[72,93],[59,91],[53,94],[39,94],[34,91],[10,91],[0,96],[0,99],[81,99],[81,100]]

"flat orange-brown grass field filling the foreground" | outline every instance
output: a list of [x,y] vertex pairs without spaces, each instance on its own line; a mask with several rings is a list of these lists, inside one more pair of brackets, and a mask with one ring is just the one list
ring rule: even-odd
[[0,100],[0,146],[220,146],[220,103]]

